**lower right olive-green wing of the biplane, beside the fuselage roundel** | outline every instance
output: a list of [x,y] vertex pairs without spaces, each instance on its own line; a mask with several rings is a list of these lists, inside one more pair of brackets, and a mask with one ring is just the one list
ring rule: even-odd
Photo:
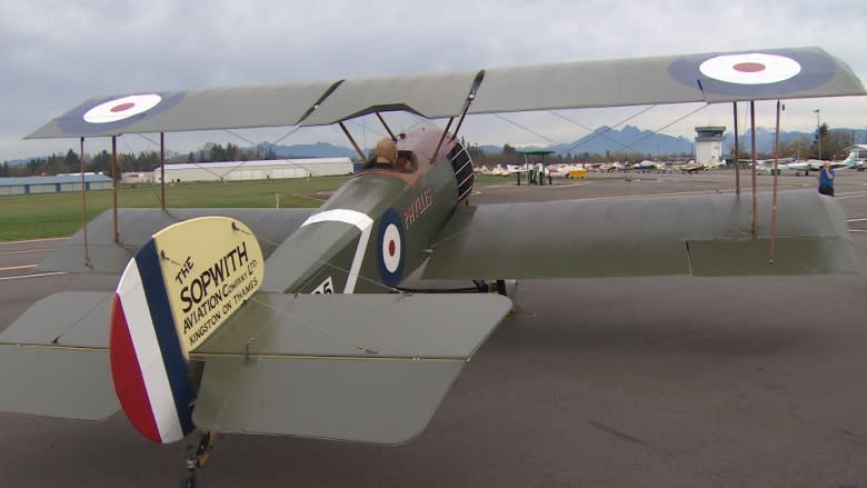
[[779,195],[774,263],[770,193],[574,200],[459,208],[423,279],[850,273],[858,261],[839,205]]

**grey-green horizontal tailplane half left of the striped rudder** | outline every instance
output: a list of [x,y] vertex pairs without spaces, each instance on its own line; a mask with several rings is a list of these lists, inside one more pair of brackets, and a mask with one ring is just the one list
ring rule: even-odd
[[107,350],[113,296],[52,295],[0,333],[0,411],[100,420],[120,409]]

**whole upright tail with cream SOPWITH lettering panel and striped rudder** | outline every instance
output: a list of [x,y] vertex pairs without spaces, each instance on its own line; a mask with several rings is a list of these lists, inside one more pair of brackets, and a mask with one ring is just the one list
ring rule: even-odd
[[256,237],[227,217],[169,226],[129,261],[109,356],[120,405],[144,437],[173,442],[193,430],[189,351],[258,289],[263,270]]

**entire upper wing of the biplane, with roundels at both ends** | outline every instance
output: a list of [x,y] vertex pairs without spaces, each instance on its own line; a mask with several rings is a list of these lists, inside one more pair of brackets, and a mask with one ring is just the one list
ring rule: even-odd
[[[470,96],[470,93],[472,93]],[[865,94],[818,48],[710,52],[346,81],[99,97],[28,138],[323,126],[376,111],[469,113]]]

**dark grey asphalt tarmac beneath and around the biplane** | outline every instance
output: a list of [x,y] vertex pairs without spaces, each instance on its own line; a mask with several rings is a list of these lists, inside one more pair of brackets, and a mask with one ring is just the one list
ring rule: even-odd
[[[522,311],[416,440],[223,436],[199,486],[867,487],[867,173],[838,175],[861,275],[521,281]],[[731,177],[504,179],[472,199],[728,191]],[[763,191],[770,181],[759,178]],[[816,183],[780,181],[783,191]],[[0,243],[0,329],[49,293],[113,287],[111,277],[31,276],[57,243]],[[0,432],[3,487],[178,486],[196,442],[153,445],[122,416],[0,415]]]

